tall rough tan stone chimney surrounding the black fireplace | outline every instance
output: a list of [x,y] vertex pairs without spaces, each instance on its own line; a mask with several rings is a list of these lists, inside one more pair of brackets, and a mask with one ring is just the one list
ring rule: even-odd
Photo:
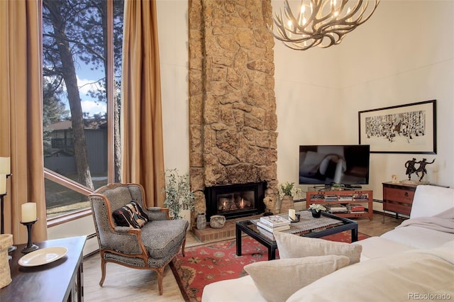
[[269,0],[189,1],[189,175],[196,213],[206,212],[206,187],[263,181],[265,206],[275,212],[271,14]]

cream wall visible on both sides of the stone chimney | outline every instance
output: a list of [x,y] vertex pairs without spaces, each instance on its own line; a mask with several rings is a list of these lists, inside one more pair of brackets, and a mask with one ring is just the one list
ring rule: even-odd
[[[358,143],[358,111],[437,100],[437,155],[427,180],[454,186],[453,1],[382,0],[341,45],[304,52],[275,45],[280,182],[298,181],[298,146]],[[282,1],[272,1],[275,10]],[[187,1],[158,0],[165,166],[189,169]],[[382,198],[391,174],[405,179],[413,155],[371,155]],[[422,157],[422,155],[417,155]],[[305,189],[305,188],[303,188]]]

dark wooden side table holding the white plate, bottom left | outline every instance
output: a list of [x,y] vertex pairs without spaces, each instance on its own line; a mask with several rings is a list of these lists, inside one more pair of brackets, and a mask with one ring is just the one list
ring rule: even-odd
[[84,301],[82,251],[87,236],[34,242],[40,249],[67,247],[65,257],[37,267],[21,267],[26,245],[16,245],[9,261],[11,283],[0,289],[0,301]]

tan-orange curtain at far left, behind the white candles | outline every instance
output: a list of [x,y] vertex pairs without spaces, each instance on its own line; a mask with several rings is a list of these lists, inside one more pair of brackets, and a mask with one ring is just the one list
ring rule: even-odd
[[43,174],[40,1],[0,1],[0,157],[11,157],[5,233],[27,242],[21,205],[36,203],[33,240],[47,239]]

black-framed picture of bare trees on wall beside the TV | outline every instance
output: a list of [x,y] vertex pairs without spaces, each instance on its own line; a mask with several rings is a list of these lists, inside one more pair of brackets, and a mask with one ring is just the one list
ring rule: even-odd
[[358,123],[371,153],[436,154],[436,100],[359,111]]

